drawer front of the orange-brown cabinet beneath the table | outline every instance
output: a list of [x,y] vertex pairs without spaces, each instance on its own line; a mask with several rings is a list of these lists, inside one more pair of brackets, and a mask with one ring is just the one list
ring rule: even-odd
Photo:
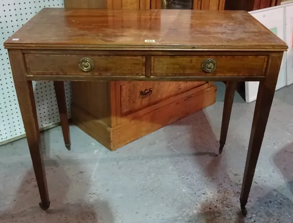
[[127,115],[206,82],[130,81],[120,85],[121,114]]

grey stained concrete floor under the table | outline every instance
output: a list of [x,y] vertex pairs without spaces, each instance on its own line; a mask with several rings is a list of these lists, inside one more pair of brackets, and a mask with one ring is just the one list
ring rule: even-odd
[[218,149],[217,102],[110,152],[77,127],[42,134],[51,207],[39,208],[25,139],[0,147],[0,223],[292,223],[293,86],[276,92],[249,199],[239,196],[255,103],[236,95],[227,144]]

